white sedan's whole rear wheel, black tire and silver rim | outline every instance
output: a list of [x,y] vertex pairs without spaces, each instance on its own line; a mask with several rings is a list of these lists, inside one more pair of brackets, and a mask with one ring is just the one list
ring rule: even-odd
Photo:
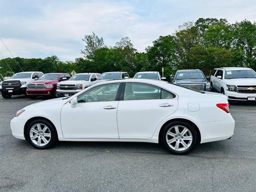
[[191,152],[197,140],[196,131],[187,122],[171,122],[162,131],[162,142],[172,154],[183,155]]

